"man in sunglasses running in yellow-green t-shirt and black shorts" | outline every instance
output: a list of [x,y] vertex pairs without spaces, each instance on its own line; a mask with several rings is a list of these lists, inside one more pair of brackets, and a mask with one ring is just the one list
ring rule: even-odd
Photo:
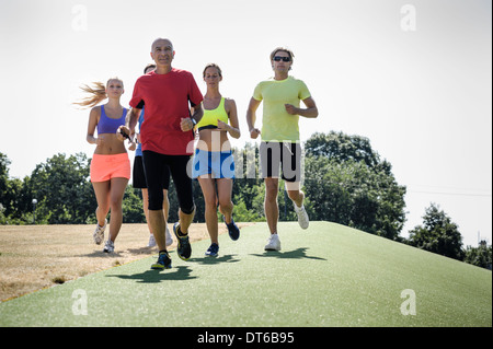
[[[261,135],[261,173],[265,179],[265,217],[271,237],[266,251],[279,251],[280,241],[277,235],[277,188],[279,184],[279,166],[283,168],[286,190],[295,203],[298,223],[302,229],[309,225],[305,210],[305,194],[300,190],[301,147],[299,141],[299,117],[316,118],[319,115],[311,94],[301,80],[289,75],[293,51],[278,47],[271,54],[274,78],[259,83],[253,92],[246,112],[250,137],[256,139]],[[300,108],[300,101],[306,108]],[[262,131],[255,128],[256,109],[263,102]]]

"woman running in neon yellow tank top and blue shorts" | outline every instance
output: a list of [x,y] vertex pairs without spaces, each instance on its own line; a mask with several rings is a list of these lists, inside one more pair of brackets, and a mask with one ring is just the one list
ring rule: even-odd
[[[204,81],[207,92],[204,95],[204,116],[195,126],[198,142],[195,150],[192,176],[198,178],[205,200],[205,219],[211,245],[206,256],[216,257],[219,252],[217,205],[228,226],[232,240],[240,237],[240,230],[232,219],[231,202],[234,160],[228,133],[240,138],[237,105],[219,92],[222,72],[217,65],[207,65]],[[228,123],[229,121],[229,123]]]

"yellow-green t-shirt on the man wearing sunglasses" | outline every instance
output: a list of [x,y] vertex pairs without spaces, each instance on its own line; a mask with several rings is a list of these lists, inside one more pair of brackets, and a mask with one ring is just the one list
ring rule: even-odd
[[288,114],[285,104],[299,107],[299,101],[310,96],[305,82],[293,77],[279,81],[270,79],[259,83],[253,97],[263,101],[264,104],[262,140],[299,142],[299,115]]

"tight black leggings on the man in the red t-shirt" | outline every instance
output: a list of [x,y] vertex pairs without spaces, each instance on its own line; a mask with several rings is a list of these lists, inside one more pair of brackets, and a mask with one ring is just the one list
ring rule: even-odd
[[[149,193],[149,210],[162,210],[164,200],[162,178],[169,172],[173,177],[180,209],[185,214],[191,214],[195,209],[192,193],[192,178],[187,173],[190,155],[164,155],[153,151],[142,151],[144,172],[146,174],[147,188]],[[191,167],[192,168],[192,167]],[[190,173],[191,170],[190,168]]]

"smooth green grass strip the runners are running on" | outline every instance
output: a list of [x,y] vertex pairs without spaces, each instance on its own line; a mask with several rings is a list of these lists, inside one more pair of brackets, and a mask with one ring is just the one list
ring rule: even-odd
[[279,236],[264,252],[260,223],[221,235],[218,258],[200,241],[170,270],[152,256],[3,302],[0,326],[492,325],[489,270],[328,222]]

